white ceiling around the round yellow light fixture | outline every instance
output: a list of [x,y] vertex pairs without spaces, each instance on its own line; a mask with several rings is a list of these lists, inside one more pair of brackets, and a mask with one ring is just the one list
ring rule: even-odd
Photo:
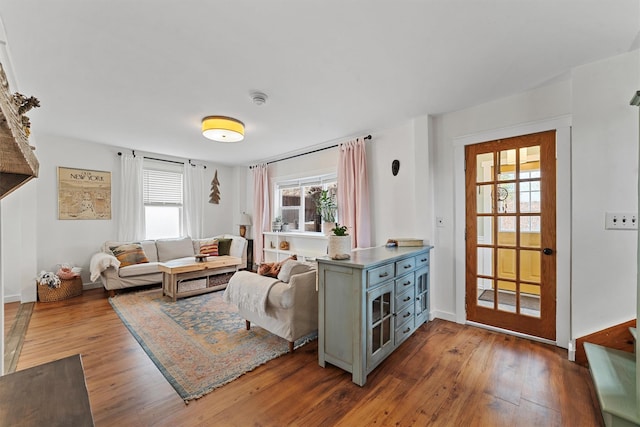
[[[640,48],[637,0],[0,0],[0,17],[15,84],[41,101],[35,136],[222,164],[459,110]],[[207,115],[243,121],[245,140],[205,139]]]

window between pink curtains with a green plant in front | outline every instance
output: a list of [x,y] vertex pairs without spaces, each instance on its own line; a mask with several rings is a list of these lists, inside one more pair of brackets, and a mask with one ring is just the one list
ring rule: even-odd
[[321,231],[322,223],[316,218],[316,202],[323,190],[336,197],[338,189],[335,174],[281,181],[276,184],[276,216],[290,231]]

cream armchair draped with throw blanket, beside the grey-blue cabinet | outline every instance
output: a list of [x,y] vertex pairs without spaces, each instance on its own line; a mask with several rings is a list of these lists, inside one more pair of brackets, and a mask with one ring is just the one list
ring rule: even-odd
[[[299,267],[306,264],[306,268]],[[297,270],[297,271],[296,271]],[[287,261],[278,278],[239,271],[231,277],[224,300],[238,307],[246,320],[284,338],[293,352],[294,342],[318,330],[316,266]]]

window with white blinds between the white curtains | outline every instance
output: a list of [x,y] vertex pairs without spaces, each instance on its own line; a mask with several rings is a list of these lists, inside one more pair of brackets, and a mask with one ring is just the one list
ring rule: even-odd
[[145,160],[143,198],[146,238],[180,237],[182,165]]

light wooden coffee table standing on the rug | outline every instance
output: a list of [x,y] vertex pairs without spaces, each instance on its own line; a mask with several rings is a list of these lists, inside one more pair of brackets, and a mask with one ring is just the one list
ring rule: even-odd
[[[220,274],[223,268],[235,267],[242,264],[242,259],[229,255],[209,257],[206,261],[196,261],[193,259],[182,259],[163,262],[158,265],[162,271],[162,295],[167,295],[175,301],[178,298],[188,297],[212,292],[215,289],[209,286],[209,276]],[[204,287],[189,289],[178,292],[178,282],[189,279],[205,279]]]

